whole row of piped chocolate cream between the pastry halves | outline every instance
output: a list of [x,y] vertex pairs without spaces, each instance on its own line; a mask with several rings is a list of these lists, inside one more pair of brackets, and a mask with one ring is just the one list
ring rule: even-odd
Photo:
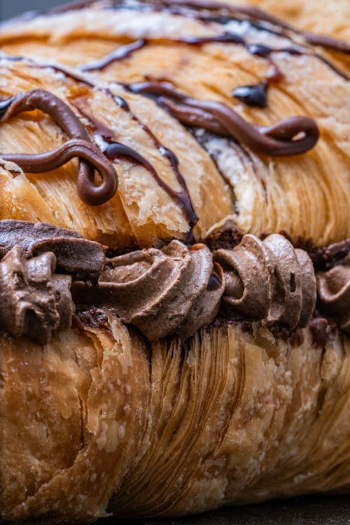
[[112,258],[105,248],[52,225],[0,221],[2,330],[45,344],[52,331],[71,326],[74,311],[86,322],[101,309],[150,340],[190,337],[218,314],[290,332],[318,322],[317,299],[350,332],[350,255],[315,272],[308,253],[279,234],[244,235],[214,253],[177,240]]

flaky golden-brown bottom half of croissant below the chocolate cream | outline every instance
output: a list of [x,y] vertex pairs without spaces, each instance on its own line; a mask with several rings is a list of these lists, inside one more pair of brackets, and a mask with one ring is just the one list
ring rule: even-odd
[[350,338],[227,323],[150,343],[109,316],[0,337],[1,517],[88,523],[350,491]]

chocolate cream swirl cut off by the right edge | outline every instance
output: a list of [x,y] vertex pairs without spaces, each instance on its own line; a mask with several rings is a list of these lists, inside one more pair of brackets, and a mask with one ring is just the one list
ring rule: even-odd
[[316,281],[320,309],[350,333],[350,253],[343,265],[317,272]]

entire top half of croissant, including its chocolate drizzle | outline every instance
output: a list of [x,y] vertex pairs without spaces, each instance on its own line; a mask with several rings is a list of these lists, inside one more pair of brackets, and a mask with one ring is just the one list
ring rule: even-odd
[[1,154],[25,172],[15,184],[5,167],[6,217],[30,218],[30,200],[112,248],[193,244],[228,219],[318,246],[349,237],[346,43],[215,1],[85,2],[2,29]]

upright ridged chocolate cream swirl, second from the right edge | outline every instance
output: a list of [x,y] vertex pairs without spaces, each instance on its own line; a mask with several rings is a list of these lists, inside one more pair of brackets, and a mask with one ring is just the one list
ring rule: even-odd
[[261,241],[244,235],[233,250],[217,250],[225,274],[223,308],[229,314],[276,323],[289,330],[309,322],[316,303],[311,259],[282,235]]

